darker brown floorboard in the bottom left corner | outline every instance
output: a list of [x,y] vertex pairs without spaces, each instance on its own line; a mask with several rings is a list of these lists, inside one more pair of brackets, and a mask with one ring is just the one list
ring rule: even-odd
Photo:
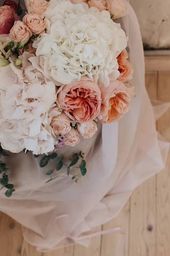
[[22,230],[20,224],[1,213],[0,256],[20,256]]

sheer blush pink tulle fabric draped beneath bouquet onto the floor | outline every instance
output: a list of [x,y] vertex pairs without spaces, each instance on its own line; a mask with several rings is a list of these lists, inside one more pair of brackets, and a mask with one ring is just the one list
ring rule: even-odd
[[[26,241],[45,251],[72,243],[88,246],[90,239],[76,239],[115,217],[133,190],[164,168],[169,143],[158,139],[155,119],[169,105],[153,107],[144,87],[144,54],[138,21],[125,1],[128,15],[121,22],[129,37],[128,53],[134,73],[136,97],[119,122],[98,124],[90,140],[74,148],[62,147],[68,155],[85,153],[87,174],[75,183],[66,170],[52,182],[48,169],[39,167],[31,153],[11,154],[8,167],[16,192],[10,199],[0,191],[0,210],[23,225]],[[51,166],[53,168],[53,166]]]

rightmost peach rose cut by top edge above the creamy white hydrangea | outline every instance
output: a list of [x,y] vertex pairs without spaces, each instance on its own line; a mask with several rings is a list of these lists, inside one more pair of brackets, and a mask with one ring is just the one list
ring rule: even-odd
[[113,19],[119,19],[127,13],[123,0],[106,0],[106,8],[113,15]]

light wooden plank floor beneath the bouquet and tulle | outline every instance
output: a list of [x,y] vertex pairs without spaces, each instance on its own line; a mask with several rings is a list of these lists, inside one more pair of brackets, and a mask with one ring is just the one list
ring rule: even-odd
[[[146,87],[151,99],[170,102],[170,72],[150,71]],[[168,127],[170,110],[157,122],[159,132],[170,140]],[[0,213],[0,256],[170,256],[169,169],[139,186],[117,218],[102,228],[115,226],[121,231],[94,238],[89,248],[76,245],[39,253],[23,241],[20,224]]]

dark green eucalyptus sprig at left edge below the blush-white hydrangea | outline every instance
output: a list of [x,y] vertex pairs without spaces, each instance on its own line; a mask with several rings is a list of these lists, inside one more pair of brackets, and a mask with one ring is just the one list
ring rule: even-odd
[[2,177],[0,178],[0,184],[2,185],[1,189],[5,187],[7,189],[5,192],[6,197],[11,197],[15,189],[13,184],[8,183],[8,174],[10,174],[10,172],[6,167],[6,163],[4,163],[2,160],[3,157],[8,157],[8,154],[6,153],[6,151],[3,150],[3,148],[0,145],[0,175],[2,175]]

